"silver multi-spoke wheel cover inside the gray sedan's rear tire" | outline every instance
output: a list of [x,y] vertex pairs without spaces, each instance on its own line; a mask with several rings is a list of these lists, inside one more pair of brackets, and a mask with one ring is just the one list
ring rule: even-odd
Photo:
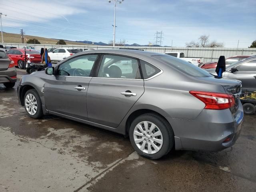
[[134,129],[133,137],[136,146],[146,154],[154,154],[162,148],[162,132],[152,122],[138,123]]

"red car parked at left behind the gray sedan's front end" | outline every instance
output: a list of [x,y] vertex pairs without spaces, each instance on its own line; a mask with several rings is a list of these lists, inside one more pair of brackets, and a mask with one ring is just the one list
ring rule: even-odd
[[[10,49],[6,52],[10,58],[14,61],[14,66],[23,69],[25,67],[25,50],[24,49]],[[36,50],[27,49],[26,50],[26,60],[33,63],[41,63],[40,52]]]

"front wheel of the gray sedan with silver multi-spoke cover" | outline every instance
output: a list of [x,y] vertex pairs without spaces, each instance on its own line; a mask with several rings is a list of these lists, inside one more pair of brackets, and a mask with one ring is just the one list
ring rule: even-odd
[[43,115],[42,102],[35,89],[30,89],[24,96],[24,106],[28,115],[32,118],[40,118]]

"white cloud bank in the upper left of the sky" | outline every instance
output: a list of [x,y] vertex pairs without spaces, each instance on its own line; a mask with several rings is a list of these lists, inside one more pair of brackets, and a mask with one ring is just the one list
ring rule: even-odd
[[[77,8],[73,4],[68,6],[63,2],[22,0],[18,2],[0,0],[1,11],[7,14],[8,23],[14,26],[25,26],[29,22],[47,22],[52,19],[60,19],[61,22],[69,22],[68,16],[86,13],[85,9]],[[70,2],[70,1],[69,1]],[[27,23],[27,24],[24,24]]]

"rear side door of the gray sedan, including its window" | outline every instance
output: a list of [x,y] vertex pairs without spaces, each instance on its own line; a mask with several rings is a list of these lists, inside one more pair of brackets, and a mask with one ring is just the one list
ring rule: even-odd
[[88,120],[116,128],[143,93],[138,60],[105,54],[88,88]]

